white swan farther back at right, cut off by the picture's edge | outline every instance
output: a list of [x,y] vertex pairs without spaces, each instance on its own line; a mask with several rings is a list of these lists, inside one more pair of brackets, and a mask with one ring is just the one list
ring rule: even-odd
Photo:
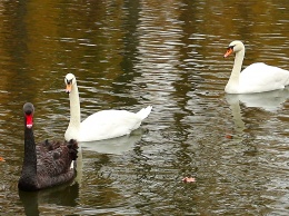
[[230,79],[225,88],[227,94],[253,94],[283,89],[289,85],[289,71],[266,63],[252,63],[241,71],[245,46],[241,41],[232,41],[225,58],[236,53]]

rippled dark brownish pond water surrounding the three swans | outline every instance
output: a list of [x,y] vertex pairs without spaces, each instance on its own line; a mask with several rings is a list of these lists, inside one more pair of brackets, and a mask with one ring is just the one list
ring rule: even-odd
[[[233,58],[222,58],[239,39],[245,66],[289,69],[288,10],[288,0],[1,1],[1,215],[288,215],[288,89],[226,96]],[[76,183],[19,194],[22,106],[36,106],[37,140],[63,139],[68,72],[83,118],[153,110],[130,137],[83,145]]]

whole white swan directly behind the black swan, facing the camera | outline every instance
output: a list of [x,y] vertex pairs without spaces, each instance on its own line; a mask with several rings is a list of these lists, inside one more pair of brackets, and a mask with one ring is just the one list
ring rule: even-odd
[[73,137],[78,141],[94,141],[128,135],[140,127],[152,109],[148,106],[137,114],[127,110],[102,110],[80,122],[80,102],[74,75],[68,73],[64,82],[70,99],[70,121],[64,135],[66,140]]

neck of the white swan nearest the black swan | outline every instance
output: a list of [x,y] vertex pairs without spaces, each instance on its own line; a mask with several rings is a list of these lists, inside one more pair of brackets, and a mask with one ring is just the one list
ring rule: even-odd
[[70,101],[70,121],[66,131],[66,140],[78,139],[80,129],[80,102],[77,84],[72,85],[69,94]]

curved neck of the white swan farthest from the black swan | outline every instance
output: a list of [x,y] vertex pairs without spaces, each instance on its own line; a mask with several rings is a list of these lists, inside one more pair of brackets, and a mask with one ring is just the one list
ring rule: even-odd
[[240,72],[242,68],[242,61],[245,56],[245,49],[236,52],[235,62],[230,79],[226,86],[225,91],[229,94],[238,94]]

